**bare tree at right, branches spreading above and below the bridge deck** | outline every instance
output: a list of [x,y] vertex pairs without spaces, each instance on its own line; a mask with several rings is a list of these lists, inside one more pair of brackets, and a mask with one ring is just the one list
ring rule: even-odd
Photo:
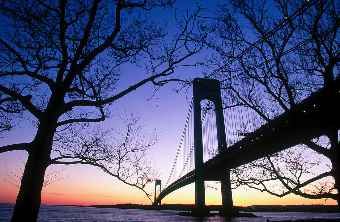
[[[226,90],[226,107],[247,107],[256,113],[253,125],[273,118],[324,87],[335,98],[340,65],[339,2],[227,1],[207,29],[215,54],[207,76]],[[221,67],[221,68],[219,68]],[[217,69],[219,68],[219,69]],[[328,123],[327,123],[328,124]],[[259,127],[259,126],[258,126]],[[232,170],[236,186],[246,185],[282,197],[339,201],[339,126],[330,123],[324,136]],[[308,155],[307,155],[308,153]],[[316,156],[315,156],[316,155]],[[323,155],[326,172],[311,168]],[[270,183],[278,183],[271,187]]]

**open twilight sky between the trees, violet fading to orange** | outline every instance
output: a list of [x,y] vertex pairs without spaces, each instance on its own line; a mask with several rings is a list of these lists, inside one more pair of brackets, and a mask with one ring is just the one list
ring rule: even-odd
[[[204,1],[200,4],[207,4]],[[194,6],[191,1],[191,6]],[[188,4],[190,5],[190,4]],[[179,6],[181,7],[181,5]],[[184,7],[184,6],[183,6]],[[207,56],[204,52],[200,58]],[[201,68],[187,68],[176,72],[175,76],[204,77]],[[142,73],[136,67],[125,67],[125,75],[121,78],[121,87],[132,85],[138,82],[139,74]],[[133,82],[132,80],[133,79]],[[176,152],[180,143],[185,125],[189,103],[191,101],[192,89],[185,94],[172,89],[175,84],[168,84],[160,88],[157,94],[158,101],[152,97],[153,85],[147,84],[123,98],[119,99],[114,108],[122,114],[124,108],[133,110],[141,115],[140,124],[145,125],[145,132],[153,132],[156,129],[160,135],[159,142],[149,151],[149,157],[153,159],[154,166],[158,169],[159,178],[163,183],[168,179]],[[118,116],[107,119],[101,126],[117,126]],[[6,134],[0,138],[0,146],[12,143],[30,142],[34,138],[36,128],[23,121],[21,128]],[[20,174],[24,169],[27,160],[26,151],[11,151],[0,153],[0,203],[15,203],[19,189],[6,180],[10,180],[8,170]],[[8,168],[8,170],[6,169]],[[64,179],[53,182],[50,186],[44,187],[41,194],[41,204],[65,204],[65,205],[109,205],[119,203],[151,204],[150,200],[138,189],[126,185],[116,178],[100,171],[96,167],[87,165],[50,166],[51,170],[62,170]],[[47,171],[48,171],[47,170]],[[151,188],[154,184],[150,185]],[[206,189],[206,204],[221,204],[220,190]],[[294,205],[294,204],[337,204],[334,200],[310,200],[295,195],[288,195],[283,198],[261,193],[253,189],[237,188],[232,191],[233,203],[236,206],[249,205]],[[162,203],[194,203],[194,185],[190,184],[172,192],[162,200]]]

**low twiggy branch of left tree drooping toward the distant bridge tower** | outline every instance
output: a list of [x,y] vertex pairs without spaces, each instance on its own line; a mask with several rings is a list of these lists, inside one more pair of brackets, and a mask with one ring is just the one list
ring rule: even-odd
[[[125,184],[140,189],[150,199],[145,188],[157,177],[157,170],[147,158],[147,151],[157,143],[157,133],[147,136],[137,125],[139,116],[131,113],[121,117],[122,129],[88,127],[86,130],[69,127],[56,132],[52,152],[60,156],[52,164],[89,164],[116,177]],[[152,202],[152,200],[150,199]]]

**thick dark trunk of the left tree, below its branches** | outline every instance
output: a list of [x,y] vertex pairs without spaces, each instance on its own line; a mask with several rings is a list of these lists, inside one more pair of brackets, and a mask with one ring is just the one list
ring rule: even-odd
[[34,222],[38,218],[41,189],[46,168],[50,165],[54,132],[53,125],[40,125],[34,140],[29,145],[28,159],[11,222]]

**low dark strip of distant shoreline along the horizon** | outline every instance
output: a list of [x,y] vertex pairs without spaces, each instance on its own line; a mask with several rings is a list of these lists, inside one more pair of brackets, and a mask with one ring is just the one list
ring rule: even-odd
[[[142,204],[115,204],[115,205],[90,205],[84,207],[119,208],[119,209],[154,209],[152,205]],[[191,210],[194,204],[162,204],[161,210]],[[218,210],[221,205],[207,206],[211,211]],[[253,205],[248,207],[235,206],[239,211],[245,212],[327,212],[339,213],[338,205]]]

